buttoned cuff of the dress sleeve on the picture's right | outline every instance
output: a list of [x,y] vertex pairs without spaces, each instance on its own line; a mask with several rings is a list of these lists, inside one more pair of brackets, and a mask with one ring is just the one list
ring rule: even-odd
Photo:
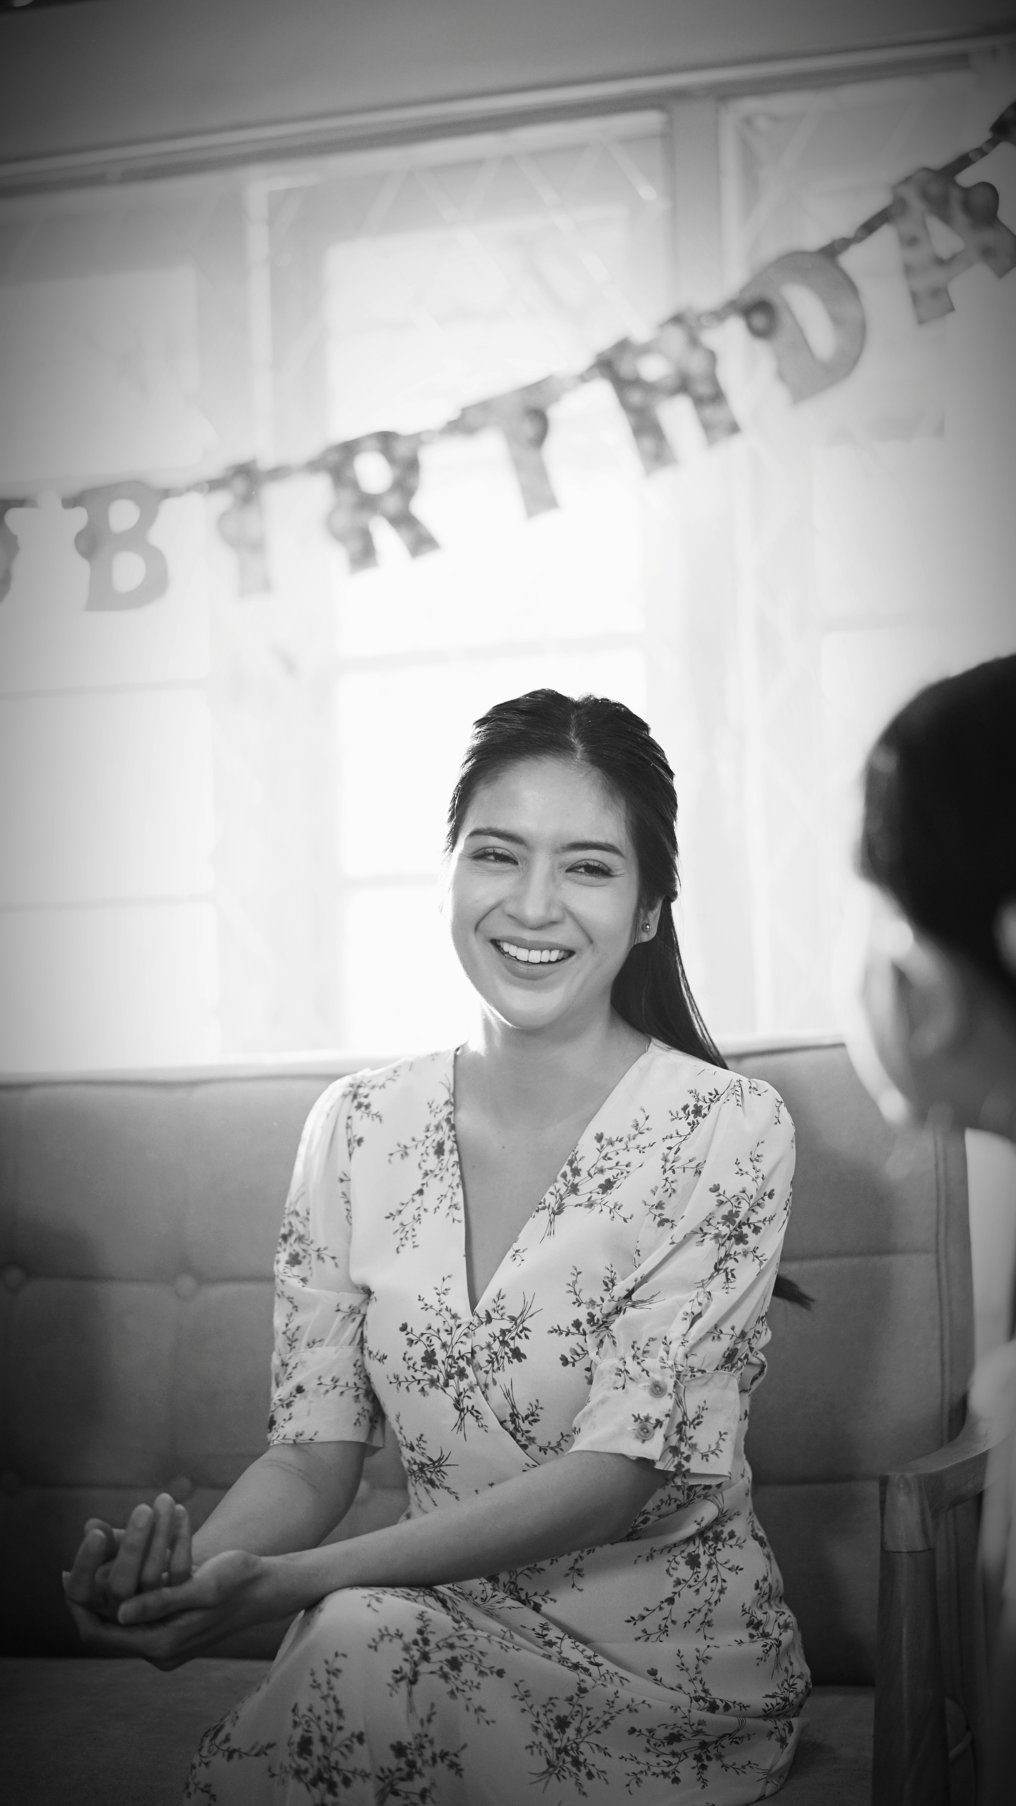
[[682,1376],[660,1360],[640,1362],[633,1376],[622,1356],[606,1356],[575,1418],[571,1450],[629,1456],[689,1479],[727,1479],[739,1416],[732,1373]]

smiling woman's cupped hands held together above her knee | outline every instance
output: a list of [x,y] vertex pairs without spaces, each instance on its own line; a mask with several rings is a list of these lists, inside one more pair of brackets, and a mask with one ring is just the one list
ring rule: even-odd
[[89,1649],[143,1656],[159,1669],[179,1667],[248,1624],[282,1616],[284,1591],[280,1564],[246,1550],[224,1550],[195,1568],[186,1506],[168,1492],[137,1504],[125,1530],[90,1517],[63,1575]]

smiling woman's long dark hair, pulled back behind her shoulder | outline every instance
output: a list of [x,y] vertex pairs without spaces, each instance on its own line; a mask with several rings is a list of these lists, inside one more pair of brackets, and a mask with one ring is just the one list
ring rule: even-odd
[[[522,759],[568,759],[598,771],[624,804],[638,861],[638,907],[662,901],[651,941],[638,941],[620,968],[611,1004],[640,1035],[727,1067],[691,993],[674,932],[678,896],[678,798],[674,773],[647,724],[624,703],[602,695],[530,690],[495,703],[474,722],[448,805],[447,851],[454,852],[466,809],[499,771]],[[776,1297],[810,1302],[792,1279],[777,1275]]]

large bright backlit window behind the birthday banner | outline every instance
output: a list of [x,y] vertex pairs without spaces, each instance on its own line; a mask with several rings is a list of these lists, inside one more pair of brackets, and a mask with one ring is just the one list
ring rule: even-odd
[[[727,293],[978,143],[1011,87],[1000,61],[714,108],[692,163],[720,155]],[[264,491],[268,589],[239,591],[222,495],[186,493],[150,533],[166,596],[94,612],[60,502],[428,433],[642,336],[687,302],[676,143],[636,112],[0,204],[0,493],[38,502],[7,515],[0,601],[2,1066],[459,1037],[443,811],[470,721],[535,684],[616,695],[662,739],[714,1031],[833,1026],[864,748],[918,683],[1012,643],[1016,276],[967,271],[917,327],[882,231],[846,258],[868,347],[839,388],[790,408],[729,321],[738,439],[707,450],[678,397],[680,462],[647,479],[584,383],[544,446],[559,507],[526,520],[495,430],[434,437],[414,511],[439,549],[381,522],[358,574],[304,471]],[[1016,220],[1016,157],[976,175]]]

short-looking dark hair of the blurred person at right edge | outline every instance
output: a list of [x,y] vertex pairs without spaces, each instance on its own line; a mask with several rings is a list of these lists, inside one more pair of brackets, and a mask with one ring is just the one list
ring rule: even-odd
[[1016,898],[1016,656],[920,690],[864,771],[861,872],[1016,1008],[996,943]]

